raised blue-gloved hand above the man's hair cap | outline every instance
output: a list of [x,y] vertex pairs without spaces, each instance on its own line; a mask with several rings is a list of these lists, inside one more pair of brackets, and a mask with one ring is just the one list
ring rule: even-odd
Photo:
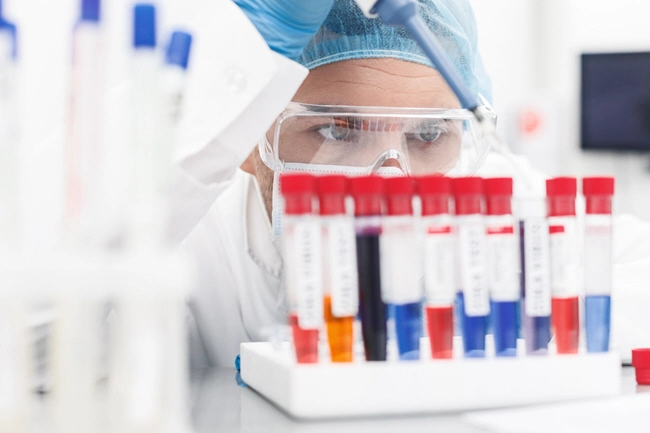
[[269,47],[292,60],[320,28],[334,0],[234,0]]

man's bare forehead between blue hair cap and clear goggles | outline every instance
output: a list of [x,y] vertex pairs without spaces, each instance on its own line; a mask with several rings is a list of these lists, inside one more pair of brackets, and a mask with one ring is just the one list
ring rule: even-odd
[[[317,105],[460,108],[458,99],[436,70],[395,59],[346,60],[318,67],[309,73],[293,101]],[[269,139],[272,134],[270,130]],[[301,145],[304,143],[295,143]],[[295,149],[295,153],[301,152],[304,149]],[[273,171],[262,162],[257,149],[253,155],[255,176],[270,216]]]

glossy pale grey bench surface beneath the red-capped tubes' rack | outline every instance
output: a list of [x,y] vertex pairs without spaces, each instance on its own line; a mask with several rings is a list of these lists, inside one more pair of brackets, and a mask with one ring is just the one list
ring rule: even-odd
[[[487,432],[466,424],[460,414],[296,421],[252,389],[238,386],[236,375],[237,371],[231,368],[193,372],[192,422],[196,433]],[[636,384],[633,368],[624,367],[622,375],[622,394],[650,392],[650,386]]]

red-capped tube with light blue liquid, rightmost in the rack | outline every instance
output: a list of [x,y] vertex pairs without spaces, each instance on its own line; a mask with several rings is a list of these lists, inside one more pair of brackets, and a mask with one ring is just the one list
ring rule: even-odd
[[582,180],[585,215],[585,330],[588,352],[609,350],[612,293],[612,196],[614,178]]

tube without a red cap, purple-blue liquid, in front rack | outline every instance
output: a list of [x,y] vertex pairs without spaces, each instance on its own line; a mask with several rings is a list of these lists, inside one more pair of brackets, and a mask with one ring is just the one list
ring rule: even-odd
[[549,230],[543,197],[516,201],[526,353],[546,355],[551,340]]

